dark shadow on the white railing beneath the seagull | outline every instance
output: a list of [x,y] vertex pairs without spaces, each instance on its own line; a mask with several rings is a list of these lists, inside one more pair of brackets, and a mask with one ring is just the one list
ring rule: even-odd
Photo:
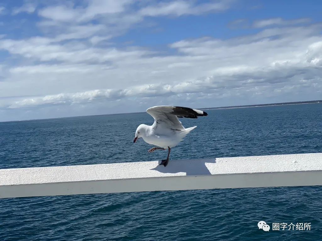
[[[159,161],[159,164],[161,161]],[[211,174],[206,163],[216,163],[216,158],[197,159],[197,160],[176,160],[169,161],[168,165],[157,165],[150,170],[156,170],[161,173],[179,173],[184,172],[186,175],[209,175]]]

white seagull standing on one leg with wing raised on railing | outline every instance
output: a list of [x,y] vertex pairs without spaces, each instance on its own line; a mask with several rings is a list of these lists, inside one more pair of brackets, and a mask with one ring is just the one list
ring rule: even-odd
[[141,124],[135,131],[133,143],[142,137],[148,144],[154,145],[148,150],[149,153],[155,150],[168,150],[168,156],[162,160],[160,165],[166,165],[169,162],[171,147],[178,145],[180,141],[196,126],[185,128],[178,118],[198,118],[198,116],[207,116],[204,111],[181,107],[160,105],[147,109],[147,113],[154,118],[152,126]]

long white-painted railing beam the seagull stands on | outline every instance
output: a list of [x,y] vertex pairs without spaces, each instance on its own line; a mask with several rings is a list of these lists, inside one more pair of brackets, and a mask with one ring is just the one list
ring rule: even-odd
[[0,198],[322,185],[322,153],[0,169]]

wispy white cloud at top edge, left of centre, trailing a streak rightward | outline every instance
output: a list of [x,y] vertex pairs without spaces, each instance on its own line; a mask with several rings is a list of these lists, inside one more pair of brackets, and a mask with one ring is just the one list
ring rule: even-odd
[[[95,0],[86,6],[74,6],[70,2],[41,8],[38,11],[44,20],[39,26],[49,35],[57,32],[62,36],[73,35],[74,38],[82,38],[75,28],[88,28],[83,35],[95,36],[104,39],[106,36],[115,37],[125,33],[130,27],[143,22],[147,16],[180,16],[200,15],[203,13],[219,12],[228,9],[232,0],[222,0],[211,3],[197,4],[194,1],[159,2],[135,2],[130,0]],[[135,5],[138,6],[135,6]],[[136,8],[139,8],[136,10]],[[95,29],[93,21],[99,22],[100,29]],[[56,38],[58,38],[56,36]],[[95,42],[97,43],[97,42]]]

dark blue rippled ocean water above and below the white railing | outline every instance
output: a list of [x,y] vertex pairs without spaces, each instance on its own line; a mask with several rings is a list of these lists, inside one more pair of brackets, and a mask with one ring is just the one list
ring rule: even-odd
[[[209,110],[172,159],[322,152],[322,104]],[[164,159],[133,144],[147,113],[0,123],[0,168]],[[170,160],[171,161],[171,160]],[[311,223],[264,232],[259,221]],[[272,227],[271,227],[272,228]],[[0,200],[0,240],[322,240],[322,187]]]

